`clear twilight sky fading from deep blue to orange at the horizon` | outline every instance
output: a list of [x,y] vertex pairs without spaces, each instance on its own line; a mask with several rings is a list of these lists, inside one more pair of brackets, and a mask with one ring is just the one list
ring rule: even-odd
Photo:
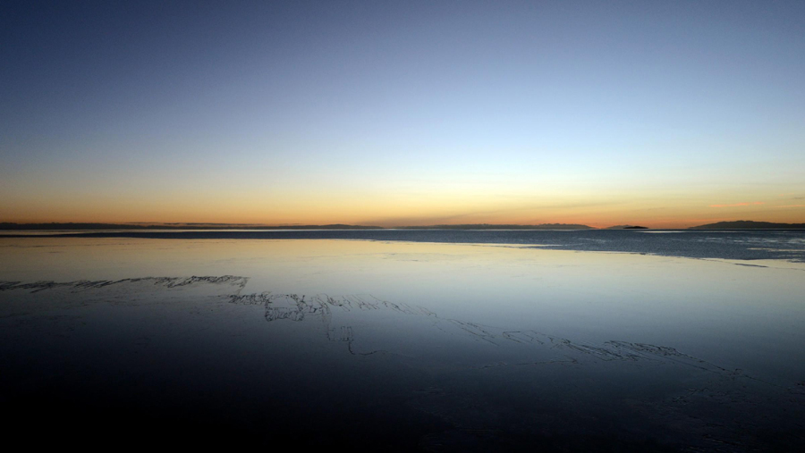
[[0,4],[0,222],[805,222],[805,2]]

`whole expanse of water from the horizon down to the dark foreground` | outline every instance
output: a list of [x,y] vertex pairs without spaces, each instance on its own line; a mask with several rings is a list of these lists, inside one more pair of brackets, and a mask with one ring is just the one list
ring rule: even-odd
[[0,238],[4,431],[31,447],[805,445],[801,232],[379,233],[403,236]]

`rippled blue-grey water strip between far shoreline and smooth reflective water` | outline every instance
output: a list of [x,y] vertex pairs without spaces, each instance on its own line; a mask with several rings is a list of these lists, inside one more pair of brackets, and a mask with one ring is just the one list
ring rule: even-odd
[[[4,234],[18,234],[4,231]],[[369,239],[532,245],[557,250],[644,253],[690,258],[805,262],[805,231],[640,230],[316,230],[316,231],[30,231],[23,234],[132,239]]]

